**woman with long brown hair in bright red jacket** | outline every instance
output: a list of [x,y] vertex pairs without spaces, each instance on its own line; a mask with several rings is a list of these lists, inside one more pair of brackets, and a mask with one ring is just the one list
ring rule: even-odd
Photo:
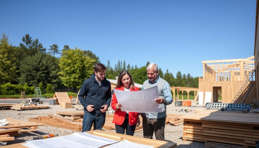
[[[118,83],[114,89],[124,91],[138,91],[139,88],[134,86],[134,81],[128,71],[122,71],[118,77]],[[124,134],[126,129],[126,135],[134,135],[136,126],[140,125],[139,113],[121,111],[121,104],[118,103],[116,95],[112,96],[112,109],[115,110],[112,123],[115,123],[116,133]]]

